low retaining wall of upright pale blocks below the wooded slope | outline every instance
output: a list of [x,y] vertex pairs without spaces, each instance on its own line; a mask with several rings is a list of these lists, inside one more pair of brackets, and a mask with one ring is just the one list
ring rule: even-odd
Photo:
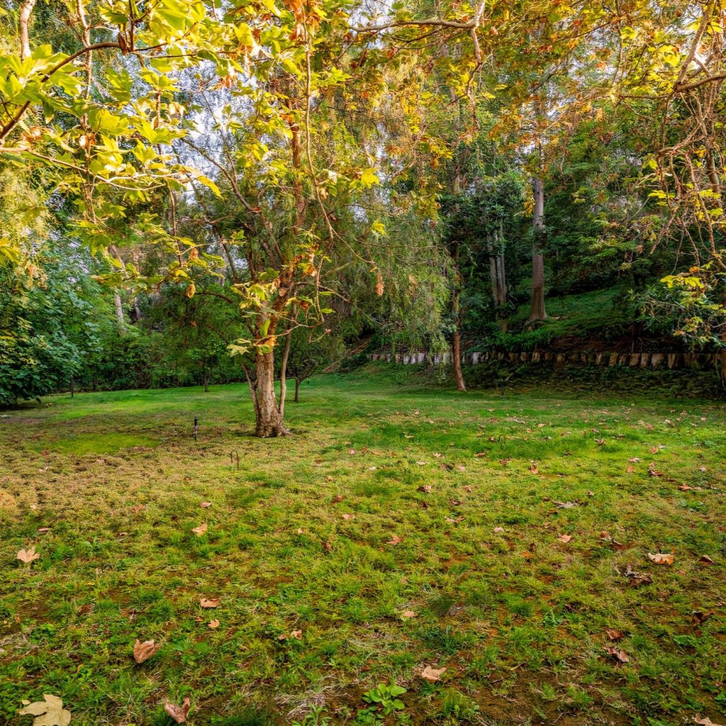
[[[378,353],[368,356],[372,361],[411,364],[450,364],[451,351],[439,354],[423,352],[412,353]],[[462,353],[464,365],[476,365],[485,361],[507,361],[511,363],[554,364],[576,363],[582,365],[623,365],[631,368],[668,368],[690,370],[726,370],[725,353],[552,353],[550,351],[533,351],[524,353],[497,353],[473,351]]]

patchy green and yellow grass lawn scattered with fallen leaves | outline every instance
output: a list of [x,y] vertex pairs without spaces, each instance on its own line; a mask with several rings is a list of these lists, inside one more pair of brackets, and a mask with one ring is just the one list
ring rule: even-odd
[[372,374],[301,397],[270,441],[246,386],[1,412],[0,723],[44,693],[72,726],[185,697],[192,725],[726,723],[722,404]]

